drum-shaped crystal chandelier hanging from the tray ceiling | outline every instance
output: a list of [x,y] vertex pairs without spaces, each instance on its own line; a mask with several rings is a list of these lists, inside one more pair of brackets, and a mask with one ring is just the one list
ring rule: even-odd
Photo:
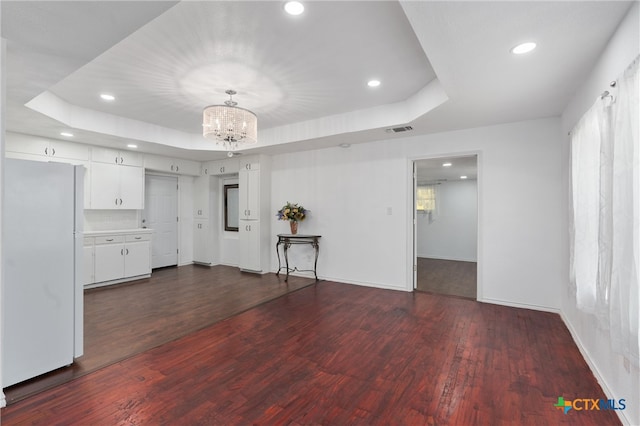
[[202,112],[202,135],[215,139],[227,151],[258,141],[258,119],[248,109],[238,108],[233,100],[235,90],[225,91],[229,100],[224,105],[211,105]]

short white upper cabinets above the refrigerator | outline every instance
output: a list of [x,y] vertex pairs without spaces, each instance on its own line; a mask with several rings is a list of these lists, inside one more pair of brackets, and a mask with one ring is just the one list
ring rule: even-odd
[[11,155],[11,157],[20,157],[24,160],[59,161],[71,164],[83,164],[89,160],[87,145],[10,132],[7,132],[5,151],[22,154]]

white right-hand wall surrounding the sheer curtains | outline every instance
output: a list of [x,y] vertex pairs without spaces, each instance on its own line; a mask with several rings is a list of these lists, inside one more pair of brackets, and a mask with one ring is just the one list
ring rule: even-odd
[[[609,82],[618,78],[631,61],[640,54],[639,9],[639,3],[636,2],[602,52],[586,83],[563,112],[562,161],[567,166],[564,168],[562,182],[564,202],[567,205],[569,203],[570,164],[567,132],[604,90],[612,90],[609,87]],[[568,215],[564,219],[564,227],[568,229]],[[563,319],[607,396],[612,399],[624,398],[627,400],[627,408],[624,411],[619,411],[618,414],[623,416],[624,421],[628,424],[640,424],[640,405],[638,404],[640,401],[640,371],[611,350],[610,333],[597,326],[593,315],[577,309],[575,296],[569,287],[568,239],[567,245],[563,247],[562,262],[567,267],[563,271],[562,291],[557,292],[557,295],[561,296]]]

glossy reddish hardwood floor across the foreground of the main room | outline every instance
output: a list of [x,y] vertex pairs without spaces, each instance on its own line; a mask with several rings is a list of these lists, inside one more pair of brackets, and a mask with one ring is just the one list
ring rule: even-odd
[[559,396],[605,397],[557,314],[320,282],[17,402],[2,422],[620,424],[565,415]]

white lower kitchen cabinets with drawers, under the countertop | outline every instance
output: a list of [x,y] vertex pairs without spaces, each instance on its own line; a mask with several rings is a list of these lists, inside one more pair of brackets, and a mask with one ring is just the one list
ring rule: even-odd
[[94,245],[87,246],[85,238],[85,265],[86,256],[92,249],[94,271],[92,282],[86,283],[85,287],[116,284],[151,274],[150,230],[144,233],[99,233],[93,239]]

